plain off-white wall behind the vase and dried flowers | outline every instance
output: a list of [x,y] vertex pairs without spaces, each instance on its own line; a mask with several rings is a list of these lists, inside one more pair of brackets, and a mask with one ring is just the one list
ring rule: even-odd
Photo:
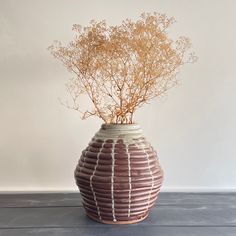
[[175,16],[199,56],[182,85],[136,121],[158,150],[163,190],[236,190],[236,2],[233,0],[0,0],[0,190],[76,190],[80,152],[99,129],[61,106],[70,77],[47,46],[74,23],[119,24],[143,11]]

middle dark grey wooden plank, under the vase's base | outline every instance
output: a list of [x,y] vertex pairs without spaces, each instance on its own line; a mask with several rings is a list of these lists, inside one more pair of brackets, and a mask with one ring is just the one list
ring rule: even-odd
[[[236,226],[236,205],[159,206],[138,225]],[[88,219],[82,207],[2,208],[0,211],[0,228],[80,226],[107,227]]]

